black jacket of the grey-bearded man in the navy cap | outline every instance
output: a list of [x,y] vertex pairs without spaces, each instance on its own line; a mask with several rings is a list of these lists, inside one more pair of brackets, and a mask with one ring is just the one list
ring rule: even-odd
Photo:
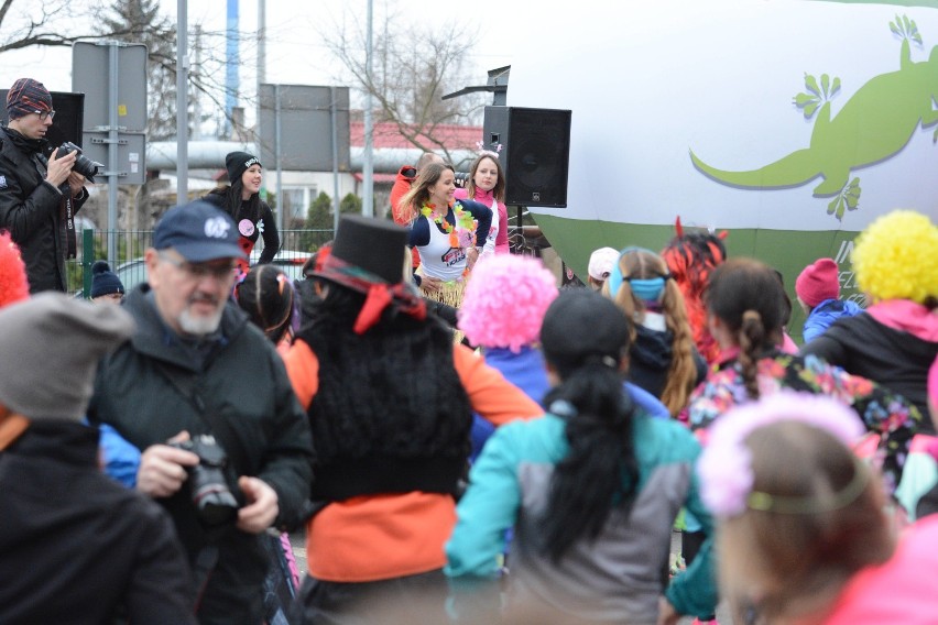
[[[89,417],[110,424],[141,450],[181,430],[211,432],[233,465],[228,476],[231,492],[240,495],[237,475],[255,475],[277,493],[277,524],[301,523],[313,478],[313,445],[309,424],[273,344],[229,301],[220,339],[198,364],[192,348],[163,324],[150,293],[142,284],[127,298],[124,306],[138,329],[101,361]],[[167,372],[183,383],[172,382]],[[187,395],[186,386],[192,391]],[[215,420],[201,416],[207,413]],[[210,420],[225,424],[225,431],[210,427]],[[190,561],[209,542],[218,546],[218,564],[201,599],[199,622],[260,623],[266,560],[259,537],[234,527],[209,535],[187,486],[159,502],[173,517]]]

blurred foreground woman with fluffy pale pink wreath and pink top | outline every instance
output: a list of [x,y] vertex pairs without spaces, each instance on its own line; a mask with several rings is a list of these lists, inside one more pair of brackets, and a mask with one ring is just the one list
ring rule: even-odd
[[932,623],[938,517],[896,537],[863,423],[832,397],[782,391],[715,424],[698,462],[718,519],[721,596],[738,623]]

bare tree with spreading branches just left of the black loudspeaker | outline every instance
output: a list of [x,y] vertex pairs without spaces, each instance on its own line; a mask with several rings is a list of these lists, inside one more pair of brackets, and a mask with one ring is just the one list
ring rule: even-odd
[[476,80],[466,66],[477,33],[457,22],[428,28],[426,20],[393,10],[377,23],[371,74],[362,17],[346,10],[340,24],[320,29],[323,43],[345,69],[346,76],[336,78],[351,78],[361,94],[371,94],[377,121],[394,123],[422,151],[440,150],[448,156],[455,146],[444,145],[438,127],[478,123],[484,106],[484,96],[441,99]]

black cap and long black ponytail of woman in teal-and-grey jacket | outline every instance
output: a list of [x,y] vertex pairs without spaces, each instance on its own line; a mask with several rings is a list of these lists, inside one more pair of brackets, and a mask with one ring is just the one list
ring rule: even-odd
[[545,316],[542,342],[561,380],[545,405],[566,420],[569,445],[554,469],[539,519],[544,550],[559,561],[578,539],[599,536],[613,508],[628,514],[634,500],[634,406],[622,390],[620,371],[629,351],[629,322],[597,293],[566,292]]

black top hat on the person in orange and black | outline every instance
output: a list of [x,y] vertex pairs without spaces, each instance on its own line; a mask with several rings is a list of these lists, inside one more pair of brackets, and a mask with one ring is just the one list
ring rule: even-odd
[[[343,216],[339,221],[331,256],[363,270],[358,277],[397,284],[404,279],[404,254],[407,231],[392,221],[361,216]],[[328,266],[315,275],[334,279]]]

